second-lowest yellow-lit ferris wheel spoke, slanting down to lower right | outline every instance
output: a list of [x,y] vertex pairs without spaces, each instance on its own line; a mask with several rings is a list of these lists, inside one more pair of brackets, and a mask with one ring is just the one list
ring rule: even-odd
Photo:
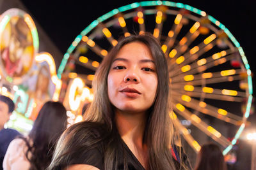
[[174,105],[175,105],[175,107],[173,108],[173,110],[176,113],[179,113],[179,115],[186,118],[186,120],[190,120],[191,124],[193,124],[195,127],[197,127],[202,132],[207,134],[207,136],[214,139],[214,141],[217,141],[218,143],[220,143],[224,147],[227,147],[228,145],[231,145],[230,141],[228,141],[227,138],[222,136],[220,132],[218,132],[216,129],[214,129],[210,125],[207,125],[201,118],[199,118],[195,114],[186,110],[186,108],[184,106],[182,106],[182,104],[174,103]]

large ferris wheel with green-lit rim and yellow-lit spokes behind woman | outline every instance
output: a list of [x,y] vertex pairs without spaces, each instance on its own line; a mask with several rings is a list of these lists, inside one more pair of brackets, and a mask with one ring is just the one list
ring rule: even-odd
[[[223,155],[230,152],[250,115],[252,76],[239,42],[205,11],[170,1],[132,3],[109,11],[74,39],[63,56],[58,77],[79,74],[90,86],[108,50],[120,36],[133,32],[152,32],[161,42],[172,91],[170,118],[191,148],[198,152],[200,142],[180,120],[223,146]],[[83,73],[72,74],[74,66]],[[228,140],[223,129],[208,121],[212,119],[235,129],[234,138]]]

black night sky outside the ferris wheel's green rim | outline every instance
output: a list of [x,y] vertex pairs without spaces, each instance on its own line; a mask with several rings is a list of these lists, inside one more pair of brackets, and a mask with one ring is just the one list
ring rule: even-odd
[[[108,11],[138,1],[21,0],[62,53],[93,20]],[[254,0],[174,1],[189,4],[220,20],[243,47],[253,72],[256,67]],[[255,78],[253,78],[255,80]],[[254,83],[255,84],[255,83]],[[254,85],[255,87],[255,85]],[[255,89],[255,88],[254,88]]]

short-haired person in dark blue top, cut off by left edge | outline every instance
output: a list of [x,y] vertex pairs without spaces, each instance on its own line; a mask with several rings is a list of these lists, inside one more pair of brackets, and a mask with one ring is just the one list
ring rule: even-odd
[[3,160],[6,150],[10,142],[20,135],[15,129],[4,128],[4,124],[8,122],[15,105],[9,97],[0,95],[0,170],[3,169]]

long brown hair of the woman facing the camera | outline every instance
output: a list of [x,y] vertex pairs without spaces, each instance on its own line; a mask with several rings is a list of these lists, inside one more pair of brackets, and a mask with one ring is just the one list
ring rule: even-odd
[[[139,41],[148,46],[156,65],[158,77],[156,100],[148,110],[148,120],[144,134],[144,142],[148,146],[148,169],[176,169],[170,152],[170,146],[173,146],[173,124],[168,116],[168,111],[170,110],[168,106],[168,66],[159,41],[157,41],[152,34],[148,33],[122,38],[111,52],[109,52],[108,56],[104,58],[93,80],[94,99],[84,114],[86,122],[74,125],[72,130],[68,129],[67,132],[63,134],[58,142],[56,152],[54,153],[51,168],[54,167],[54,164],[61,164],[61,162],[67,161],[68,155],[72,155],[71,152],[72,149],[74,149],[70,148],[70,140],[74,138],[72,136],[76,136],[76,134],[81,132],[81,128],[86,126],[84,124],[97,122],[97,124],[104,124],[109,134],[109,136],[101,136],[101,139],[108,139],[107,142],[104,141],[105,144],[107,143],[107,147],[104,150],[104,168],[117,169],[116,160],[118,158],[116,157],[116,153],[118,151],[116,143],[118,143],[118,138],[116,138],[116,136],[118,136],[118,132],[115,126],[114,106],[110,103],[108,98],[107,80],[110,66],[116,54],[122,46],[134,41]],[[90,131],[90,129],[86,130],[86,128],[84,128],[83,131],[83,137],[81,136],[81,138],[86,138],[86,133],[88,133],[86,131]],[[81,138],[79,140],[83,140]],[[63,155],[65,155],[65,157]],[[63,158],[61,159],[61,157]],[[186,169],[186,166],[180,162],[180,167],[182,166]],[[124,169],[125,167],[127,167],[127,165],[124,165]]]

